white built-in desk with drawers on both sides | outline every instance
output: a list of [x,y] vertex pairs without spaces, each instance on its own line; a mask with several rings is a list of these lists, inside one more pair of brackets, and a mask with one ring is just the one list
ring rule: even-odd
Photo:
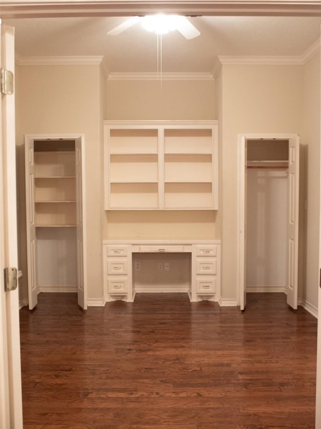
[[103,241],[106,301],[136,292],[185,292],[192,302],[220,296],[221,242],[204,238],[109,238]]

